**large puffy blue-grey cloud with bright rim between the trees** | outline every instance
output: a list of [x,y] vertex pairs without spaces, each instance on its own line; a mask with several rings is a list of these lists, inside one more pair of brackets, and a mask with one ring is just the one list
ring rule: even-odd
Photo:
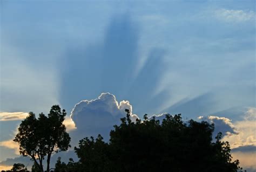
[[[110,93],[102,93],[94,100],[80,101],[70,115],[76,126],[76,129],[71,132],[71,136],[82,139],[85,136],[102,134],[107,139],[113,125],[120,123],[120,118],[126,116],[125,109],[129,109],[132,114],[132,106],[129,101],[118,102],[116,97]],[[137,118],[136,114],[131,115],[133,122]]]

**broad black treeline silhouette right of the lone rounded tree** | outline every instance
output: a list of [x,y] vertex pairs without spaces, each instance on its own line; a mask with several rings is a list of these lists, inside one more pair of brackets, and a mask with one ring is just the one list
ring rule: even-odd
[[[57,160],[55,172],[88,171],[238,171],[239,161],[232,160],[228,142],[221,141],[221,133],[212,140],[214,125],[189,120],[181,115],[166,115],[163,121],[155,118],[132,122],[126,118],[110,131],[110,140],[86,137],[79,141],[75,152],[78,162]],[[22,169],[25,170],[25,169]],[[19,170],[21,171],[21,170]],[[42,169],[36,164],[32,171]],[[48,170],[50,171],[50,169]]]

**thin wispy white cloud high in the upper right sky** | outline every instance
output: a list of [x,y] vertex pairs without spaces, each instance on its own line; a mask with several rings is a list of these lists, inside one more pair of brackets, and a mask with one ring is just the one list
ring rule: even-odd
[[215,11],[218,19],[226,22],[246,22],[255,18],[254,11],[219,9]]

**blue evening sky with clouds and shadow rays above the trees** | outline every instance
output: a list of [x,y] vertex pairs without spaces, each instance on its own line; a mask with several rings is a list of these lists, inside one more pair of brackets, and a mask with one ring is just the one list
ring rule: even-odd
[[181,113],[215,123],[256,171],[255,6],[0,0],[0,169],[28,162],[11,141],[28,112],[58,104],[73,145],[107,140],[125,108],[134,119]]

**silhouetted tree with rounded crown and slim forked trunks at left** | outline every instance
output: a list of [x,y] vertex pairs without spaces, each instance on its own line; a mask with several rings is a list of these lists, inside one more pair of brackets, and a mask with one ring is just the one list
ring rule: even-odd
[[44,171],[43,160],[46,157],[50,171],[50,159],[53,152],[65,151],[70,147],[70,136],[63,124],[66,112],[58,105],[51,107],[48,116],[43,113],[39,118],[32,112],[21,122],[14,141],[19,143],[19,153],[30,156],[38,169]]

